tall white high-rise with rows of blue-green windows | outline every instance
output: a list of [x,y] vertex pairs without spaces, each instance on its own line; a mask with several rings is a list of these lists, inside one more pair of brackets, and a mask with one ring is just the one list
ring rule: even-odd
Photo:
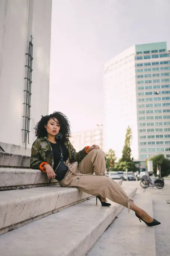
[[170,158],[170,51],[167,44],[140,44],[105,64],[105,150],[118,158],[127,126],[134,159]]

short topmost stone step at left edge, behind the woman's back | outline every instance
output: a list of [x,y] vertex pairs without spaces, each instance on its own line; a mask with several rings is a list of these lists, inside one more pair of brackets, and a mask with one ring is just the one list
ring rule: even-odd
[[0,166],[29,168],[30,157],[0,151]]

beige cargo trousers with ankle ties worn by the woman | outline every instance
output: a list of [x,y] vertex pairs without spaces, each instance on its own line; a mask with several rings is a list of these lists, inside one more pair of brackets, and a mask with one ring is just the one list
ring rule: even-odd
[[[68,172],[62,181],[62,187],[77,187],[84,192],[109,198],[129,209],[133,208],[133,199],[127,197],[121,186],[105,176],[105,156],[101,149],[93,149],[79,163],[67,163]],[[92,175],[92,174],[96,175]]]

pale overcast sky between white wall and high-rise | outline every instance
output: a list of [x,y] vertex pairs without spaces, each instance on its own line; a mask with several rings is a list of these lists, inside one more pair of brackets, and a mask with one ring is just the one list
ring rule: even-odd
[[104,63],[159,41],[170,49],[170,0],[53,0],[49,113],[73,132],[103,124]]

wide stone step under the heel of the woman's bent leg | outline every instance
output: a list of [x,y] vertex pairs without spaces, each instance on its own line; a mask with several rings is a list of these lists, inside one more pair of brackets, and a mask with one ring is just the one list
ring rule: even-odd
[[[136,193],[135,187],[124,190],[130,197]],[[84,256],[122,209],[123,206],[113,202],[111,207],[96,205],[93,198],[1,235],[0,253]]]

